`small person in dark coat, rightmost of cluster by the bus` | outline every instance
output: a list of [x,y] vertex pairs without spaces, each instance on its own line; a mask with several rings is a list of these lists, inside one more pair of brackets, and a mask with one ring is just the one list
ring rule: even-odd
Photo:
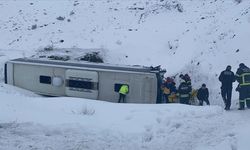
[[205,101],[207,105],[210,105],[208,97],[209,97],[208,88],[206,87],[206,84],[203,83],[201,88],[197,92],[197,98],[199,100],[199,105],[202,106],[203,101]]

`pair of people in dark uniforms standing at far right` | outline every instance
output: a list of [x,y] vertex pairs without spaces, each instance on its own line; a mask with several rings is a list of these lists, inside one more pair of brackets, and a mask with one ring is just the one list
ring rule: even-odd
[[225,110],[230,110],[233,82],[237,81],[236,91],[239,92],[239,110],[244,110],[245,105],[250,109],[250,69],[244,63],[239,64],[239,68],[234,74],[232,67],[228,65],[226,70],[219,76],[221,82],[221,95],[225,103]]

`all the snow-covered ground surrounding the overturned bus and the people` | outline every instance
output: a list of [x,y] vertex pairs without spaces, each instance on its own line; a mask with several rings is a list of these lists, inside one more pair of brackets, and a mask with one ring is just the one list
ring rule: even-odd
[[[236,110],[234,91],[225,112],[217,78],[250,66],[249,11],[248,0],[0,1],[0,149],[248,150],[250,110]],[[96,50],[106,63],[189,73],[212,106],[41,97],[3,83],[7,60]]]

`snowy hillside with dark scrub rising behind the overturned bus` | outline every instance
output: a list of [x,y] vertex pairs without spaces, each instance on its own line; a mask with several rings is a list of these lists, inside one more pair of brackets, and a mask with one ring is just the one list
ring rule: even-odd
[[220,71],[249,63],[249,5],[248,0],[1,1],[1,60],[52,45],[76,48],[67,55],[100,49],[107,63],[160,64],[167,76],[188,72],[196,88],[207,82],[215,99]]

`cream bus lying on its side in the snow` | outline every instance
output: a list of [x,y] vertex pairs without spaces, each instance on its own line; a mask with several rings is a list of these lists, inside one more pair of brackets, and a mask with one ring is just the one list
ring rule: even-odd
[[48,96],[82,97],[118,102],[126,84],[127,103],[161,102],[160,67],[121,66],[19,58],[5,63],[5,83]]

